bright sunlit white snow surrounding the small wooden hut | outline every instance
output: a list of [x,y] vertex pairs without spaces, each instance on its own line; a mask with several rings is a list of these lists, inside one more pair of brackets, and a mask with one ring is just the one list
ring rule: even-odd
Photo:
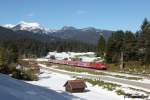
[[[42,70],[43,73],[40,75],[39,81],[28,82],[30,84],[46,87],[48,89],[52,89],[60,94],[68,94],[73,95],[76,98],[70,98],[69,96],[65,96],[70,100],[123,100],[123,96],[118,96],[115,92],[111,92],[105,89],[102,89],[99,86],[92,86],[89,83],[87,84],[87,91],[84,93],[68,93],[65,92],[65,88],[63,85],[67,80],[74,79],[68,75],[58,74],[53,72],[47,72]],[[126,99],[129,100],[129,99]]]

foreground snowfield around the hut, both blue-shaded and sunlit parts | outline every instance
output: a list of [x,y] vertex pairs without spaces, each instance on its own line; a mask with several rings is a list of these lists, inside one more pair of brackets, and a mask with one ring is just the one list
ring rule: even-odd
[[84,93],[65,92],[63,85],[71,79],[46,70],[42,70],[38,81],[30,82],[0,74],[0,100],[133,100],[89,83]]

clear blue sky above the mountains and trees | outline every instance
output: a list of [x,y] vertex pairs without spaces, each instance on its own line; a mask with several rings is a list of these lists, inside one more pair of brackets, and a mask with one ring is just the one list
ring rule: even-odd
[[150,0],[0,0],[0,25],[26,21],[51,29],[74,26],[135,32],[144,18],[150,20]]

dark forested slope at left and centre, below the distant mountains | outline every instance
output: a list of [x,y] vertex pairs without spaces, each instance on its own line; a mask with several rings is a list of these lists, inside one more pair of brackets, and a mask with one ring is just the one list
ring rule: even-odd
[[73,51],[88,52],[95,51],[95,46],[80,41],[64,40],[48,34],[38,34],[25,30],[12,30],[0,27],[0,46],[8,48],[16,47],[20,55],[30,57],[45,56],[48,51]]

